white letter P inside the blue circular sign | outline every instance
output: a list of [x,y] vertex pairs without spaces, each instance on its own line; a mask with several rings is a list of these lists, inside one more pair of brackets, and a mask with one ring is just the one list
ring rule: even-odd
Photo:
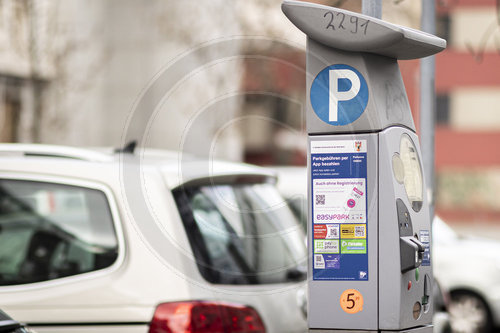
[[[329,121],[338,121],[338,104],[340,101],[349,101],[356,97],[361,88],[361,81],[358,75],[350,69],[331,69],[329,71],[330,78],[330,112]],[[347,91],[339,89],[339,81],[341,79],[349,80],[351,88]]]

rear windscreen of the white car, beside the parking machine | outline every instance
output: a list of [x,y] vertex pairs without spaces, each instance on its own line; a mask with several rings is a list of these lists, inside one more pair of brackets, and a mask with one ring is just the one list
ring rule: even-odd
[[202,276],[216,284],[301,280],[304,233],[272,184],[174,191]]

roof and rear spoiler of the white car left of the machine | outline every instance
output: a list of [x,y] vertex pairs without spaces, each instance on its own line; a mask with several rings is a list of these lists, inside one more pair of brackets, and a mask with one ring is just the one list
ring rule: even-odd
[[[234,183],[242,180],[275,181],[274,173],[265,168],[153,148],[140,148],[134,153],[120,153],[111,147],[77,148],[60,145],[7,143],[0,144],[0,159],[4,158],[19,161],[26,168],[32,168],[33,164],[37,164],[37,162],[45,165],[64,163],[68,166],[62,170],[65,175],[71,173],[68,170],[72,169],[77,173],[76,170],[81,169],[83,165],[87,168],[98,168],[103,172],[106,170],[113,172],[111,170],[114,170],[116,173],[121,163],[136,164],[142,169],[159,171],[171,189],[187,184]],[[29,165],[25,163],[27,158],[31,161]],[[20,163],[17,165],[19,166]],[[45,173],[49,174],[57,174],[58,172],[46,168],[44,170]],[[0,171],[12,170],[8,170],[5,163],[1,163]]]

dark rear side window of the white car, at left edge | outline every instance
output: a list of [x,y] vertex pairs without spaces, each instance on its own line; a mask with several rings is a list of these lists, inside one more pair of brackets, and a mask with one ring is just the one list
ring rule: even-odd
[[0,286],[91,272],[117,257],[113,218],[102,191],[0,179]]

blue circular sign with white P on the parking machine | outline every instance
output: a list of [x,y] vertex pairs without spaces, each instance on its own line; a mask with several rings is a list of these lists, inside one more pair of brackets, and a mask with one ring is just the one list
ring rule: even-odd
[[348,65],[323,69],[311,86],[311,105],[325,123],[342,126],[358,119],[368,104],[368,85],[358,70]]

